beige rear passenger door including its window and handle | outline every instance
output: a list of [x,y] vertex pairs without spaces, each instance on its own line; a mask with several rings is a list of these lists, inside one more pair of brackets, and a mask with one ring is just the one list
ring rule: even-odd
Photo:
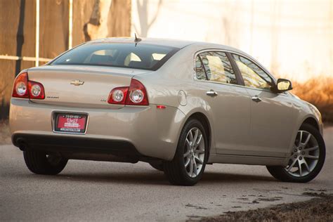
[[196,57],[197,89],[209,106],[216,153],[233,154],[244,146],[250,126],[246,89],[223,51],[205,51]]

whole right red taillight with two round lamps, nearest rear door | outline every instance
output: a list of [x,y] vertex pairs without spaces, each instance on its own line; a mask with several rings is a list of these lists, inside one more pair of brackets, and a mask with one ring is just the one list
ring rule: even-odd
[[129,87],[117,87],[110,92],[107,103],[121,105],[149,105],[145,86],[136,80],[131,80]]

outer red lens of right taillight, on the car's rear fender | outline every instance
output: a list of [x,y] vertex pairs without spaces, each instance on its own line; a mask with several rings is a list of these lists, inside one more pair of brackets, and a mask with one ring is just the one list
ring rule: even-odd
[[131,80],[126,105],[149,105],[145,86],[136,79]]

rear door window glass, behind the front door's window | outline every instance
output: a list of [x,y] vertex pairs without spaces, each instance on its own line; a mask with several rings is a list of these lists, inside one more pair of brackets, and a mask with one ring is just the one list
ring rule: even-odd
[[200,53],[197,55],[196,65],[197,79],[204,77],[209,81],[237,84],[235,72],[226,53],[219,51]]

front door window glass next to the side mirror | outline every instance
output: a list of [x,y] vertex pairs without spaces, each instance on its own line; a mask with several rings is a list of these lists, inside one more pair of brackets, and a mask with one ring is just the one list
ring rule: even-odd
[[270,89],[273,86],[273,79],[258,65],[240,55],[233,54],[233,58],[240,69],[245,86],[256,89]]

